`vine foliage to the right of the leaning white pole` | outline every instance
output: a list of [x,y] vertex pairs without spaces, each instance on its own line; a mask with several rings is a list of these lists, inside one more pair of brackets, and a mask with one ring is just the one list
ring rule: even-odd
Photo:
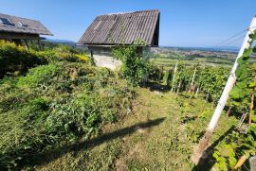
[[[214,166],[220,170],[231,170],[241,165],[246,170],[249,167],[247,159],[256,154],[256,65],[248,62],[251,53],[256,52],[255,47],[251,47],[256,40],[256,32],[250,34],[249,38],[249,46],[238,60],[239,67],[235,73],[237,81],[229,97],[230,106],[242,115],[242,123],[213,153],[217,161]],[[244,120],[247,124],[242,125]]]

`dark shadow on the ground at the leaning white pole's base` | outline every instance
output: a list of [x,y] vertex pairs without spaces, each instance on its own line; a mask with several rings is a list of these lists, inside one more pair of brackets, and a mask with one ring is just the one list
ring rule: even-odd
[[200,159],[200,161],[198,162],[197,165],[195,165],[192,170],[193,171],[200,171],[200,170],[210,170],[211,167],[214,165],[214,163],[216,162],[215,159],[212,157],[212,153],[214,148],[219,145],[219,143],[221,141],[223,141],[225,139],[225,137],[227,137],[227,135],[229,135],[229,133],[232,132],[232,130],[234,130],[235,126],[232,126],[231,128],[229,128],[223,135],[220,136],[220,138],[218,140],[216,140],[213,144],[211,144],[204,152],[204,157],[202,157]]

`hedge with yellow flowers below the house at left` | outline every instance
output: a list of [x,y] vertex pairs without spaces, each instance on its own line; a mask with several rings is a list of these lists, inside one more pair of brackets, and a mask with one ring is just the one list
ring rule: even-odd
[[91,62],[84,52],[68,45],[55,45],[44,50],[27,50],[15,43],[0,41],[0,78],[24,75],[29,68],[64,60]]

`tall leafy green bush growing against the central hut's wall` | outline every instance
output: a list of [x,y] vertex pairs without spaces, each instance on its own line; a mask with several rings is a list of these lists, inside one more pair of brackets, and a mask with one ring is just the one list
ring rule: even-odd
[[139,47],[145,45],[143,41],[136,41],[131,45],[119,45],[112,50],[113,56],[122,62],[121,77],[133,85],[141,83],[149,72],[149,60],[143,59],[143,55],[138,52]]

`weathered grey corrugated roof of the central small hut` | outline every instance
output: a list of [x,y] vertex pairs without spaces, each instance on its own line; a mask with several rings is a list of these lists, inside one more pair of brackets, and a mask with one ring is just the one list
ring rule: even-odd
[[[131,44],[142,40],[158,45],[159,10],[114,13],[98,16],[85,30],[79,44]],[[157,39],[155,44],[154,39]]]

